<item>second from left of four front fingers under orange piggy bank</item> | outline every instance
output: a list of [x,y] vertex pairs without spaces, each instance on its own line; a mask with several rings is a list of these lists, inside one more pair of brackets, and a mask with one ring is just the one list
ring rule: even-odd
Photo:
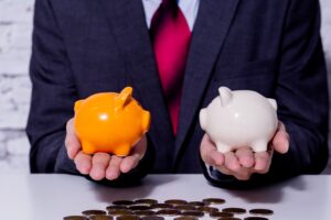
[[94,180],[100,180],[106,176],[106,169],[110,162],[110,155],[106,153],[96,153],[92,157],[92,169],[89,176]]

